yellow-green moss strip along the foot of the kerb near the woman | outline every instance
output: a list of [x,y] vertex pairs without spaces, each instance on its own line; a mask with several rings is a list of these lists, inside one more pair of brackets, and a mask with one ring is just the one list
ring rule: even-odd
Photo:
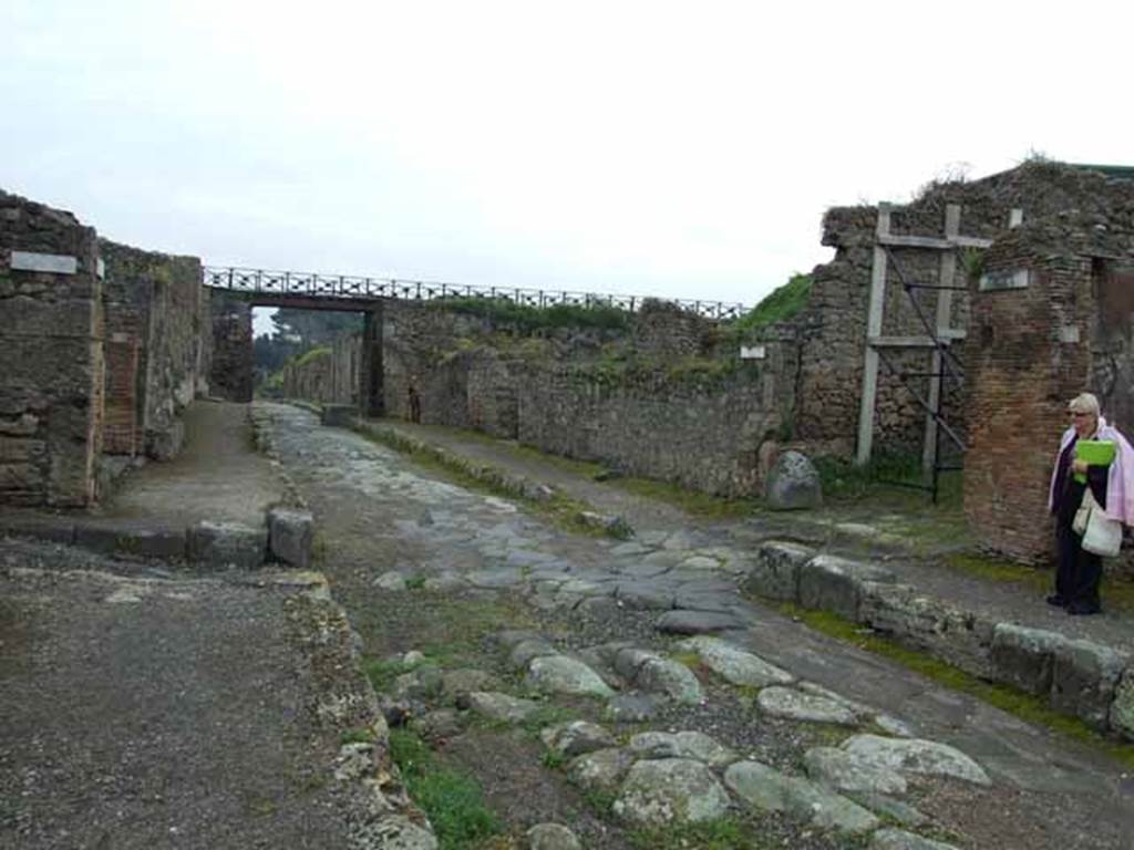
[[880,635],[863,635],[862,627],[829,611],[813,611],[792,604],[779,605],[785,614],[802,620],[816,631],[857,646],[860,649],[896,661],[939,685],[968,694],[1023,721],[1082,741],[1099,749],[1127,767],[1134,768],[1134,745],[1103,737],[1078,717],[1060,714],[1040,697],[1007,685],[988,682],[959,668],[938,661],[925,653],[909,649],[897,640]]

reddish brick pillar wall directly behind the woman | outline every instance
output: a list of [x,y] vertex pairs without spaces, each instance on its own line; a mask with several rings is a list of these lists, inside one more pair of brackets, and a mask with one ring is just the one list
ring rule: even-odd
[[1048,488],[1072,398],[1094,392],[1134,436],[1132,258],[1134,203],[1065,211],[998,239],[973,281],[964,499],[989,550],[1051,556]]

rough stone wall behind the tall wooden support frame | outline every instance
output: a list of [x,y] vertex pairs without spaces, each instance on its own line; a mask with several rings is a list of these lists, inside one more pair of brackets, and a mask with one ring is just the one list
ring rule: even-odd
[[[1044,218],[1060,210],[1105,211],[1125,193],[1122,185],[1102,175],[1058,163],[1025,163],[1017,169],[973,182],[948,182],[926,187],[923,195],[891,210],[891,233],[941,238],[946,207],[962,206],[962,236],[993,239],[1008,230],[1013,209],[1023,210],[1024,220]],[[835,258],[814,272],[811,298],[798,317],[803,350],[796,435],[816,453],[850,454],[854,451],[858,402],[862,393],[866,348],[866,313],[870,296],[878,207],[856,206],[830,210],[823,220],[823,245],[836,249]],[[937,282],[940,252],[894,247],[891,253],[907,280]],[[966,257],[958,264],[956,283],[967,277]],[[916,290],[926,317],[936,309],[933,290]],[[954,328],[968,323],[968,298],[955,292]],[[902,290],[897,270],[887,270],[886,323],[883,335],[923,335],[909,298]],[[971,342],[955,342],[953,350],[964,364]],[[929,372],[928,351],[889,351],[899,369]],[[924,397],[928,379],[914,385]],[[962,433],[966,427],[965,397],[954,389],[946,398],[945,413]],[[874,445],[913,450],[921,447],[924,411],[911,392],[885,367],[879,369]]]

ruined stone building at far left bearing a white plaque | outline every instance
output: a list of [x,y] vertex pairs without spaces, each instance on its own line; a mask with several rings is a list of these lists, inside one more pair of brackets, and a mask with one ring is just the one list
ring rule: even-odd
[[176,454],[208,315],[196,258],[0,193],[0,503],[90,505],[129,464]]

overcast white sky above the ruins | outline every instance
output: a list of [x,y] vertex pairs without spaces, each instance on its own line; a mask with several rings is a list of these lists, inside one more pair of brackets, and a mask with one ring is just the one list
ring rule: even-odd
[[0,187],[217,265],[753,304],[823,210],[1134,163],[1134,3],[0,0]]

